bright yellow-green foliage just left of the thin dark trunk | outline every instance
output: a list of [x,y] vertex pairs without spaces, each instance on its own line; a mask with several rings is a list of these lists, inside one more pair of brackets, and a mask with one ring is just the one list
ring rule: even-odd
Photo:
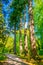
[[13,41],[14,39],[9,36],[5,45],[5,53],[13,53]]

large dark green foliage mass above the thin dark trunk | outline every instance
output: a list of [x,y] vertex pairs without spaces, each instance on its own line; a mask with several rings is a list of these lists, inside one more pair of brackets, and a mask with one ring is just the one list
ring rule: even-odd
[[22,11],[25,9],[27,0],[13,0],[11,8],[13,12],[10,14],[10,26],[14,26],[14,23],[17,25],[20,22],[20,17],[23,16]]

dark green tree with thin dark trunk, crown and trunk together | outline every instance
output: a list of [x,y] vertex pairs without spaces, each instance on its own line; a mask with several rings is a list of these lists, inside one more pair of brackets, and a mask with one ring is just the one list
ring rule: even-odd
[[[14,28],[16,27],[18,21],[20,20],[21,13],[24,9],[26,1],[27,0],[19,0],[19,1],[18,0],[13,0],[12,1],[11,7],[13,8],[13,12],[10,15],[10,25]],[[16,28],[14,29],[14,31],[15,31],[15,33],[14,33],[14,36],[15,36],[15,40],[14,40],[14,49],[15,49],[15,51],[14,51],[14,53],[16,53]]]

